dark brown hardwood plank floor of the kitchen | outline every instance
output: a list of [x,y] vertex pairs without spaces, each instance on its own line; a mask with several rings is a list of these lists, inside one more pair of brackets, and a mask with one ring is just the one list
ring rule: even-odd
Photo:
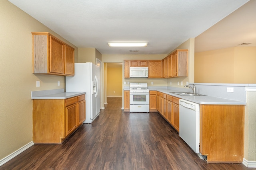
[[33,145],[1,170],[252,170],[243,164],[208,164],[158,113],[124,113],[109,97],[92,124],[62,145]]

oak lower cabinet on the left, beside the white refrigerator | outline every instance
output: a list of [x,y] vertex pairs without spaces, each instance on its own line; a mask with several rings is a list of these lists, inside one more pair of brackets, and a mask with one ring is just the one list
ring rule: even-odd
[[85,95],[33,100],[33,142],[61,144],[85,120]]

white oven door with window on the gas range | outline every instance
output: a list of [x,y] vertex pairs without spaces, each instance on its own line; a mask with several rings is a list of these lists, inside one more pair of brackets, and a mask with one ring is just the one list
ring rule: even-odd
[[149,105],[149,93],[130,93],[130,105]]

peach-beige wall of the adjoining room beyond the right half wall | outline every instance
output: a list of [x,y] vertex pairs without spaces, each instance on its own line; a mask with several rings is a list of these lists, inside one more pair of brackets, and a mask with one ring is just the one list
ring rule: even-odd
[[195,53],[195,82],[256,83],[256,47]]

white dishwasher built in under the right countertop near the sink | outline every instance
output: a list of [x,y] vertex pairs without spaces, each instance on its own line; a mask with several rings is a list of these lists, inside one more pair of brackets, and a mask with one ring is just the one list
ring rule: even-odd
[[199,153],[199,110],[199,104],[180,99],[180,137],[196,153]]

